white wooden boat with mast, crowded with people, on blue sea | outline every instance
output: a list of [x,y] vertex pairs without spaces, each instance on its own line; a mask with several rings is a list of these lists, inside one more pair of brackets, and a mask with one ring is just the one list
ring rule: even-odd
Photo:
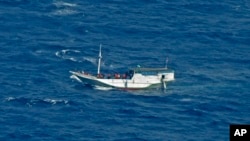
[[70,71],[71,78],[78,80],[81,83],[91,86],[117,88],[126,90],[137,90],[146,88],[166,89],[166,83],[174,80],[174,71],[163,68],[143,68],[137,66],[129,69],[126,73],[119,74],[102,74],[101,70],[101,53],[102,46],[100,45],[97,74],[93,75],[86,71]]

